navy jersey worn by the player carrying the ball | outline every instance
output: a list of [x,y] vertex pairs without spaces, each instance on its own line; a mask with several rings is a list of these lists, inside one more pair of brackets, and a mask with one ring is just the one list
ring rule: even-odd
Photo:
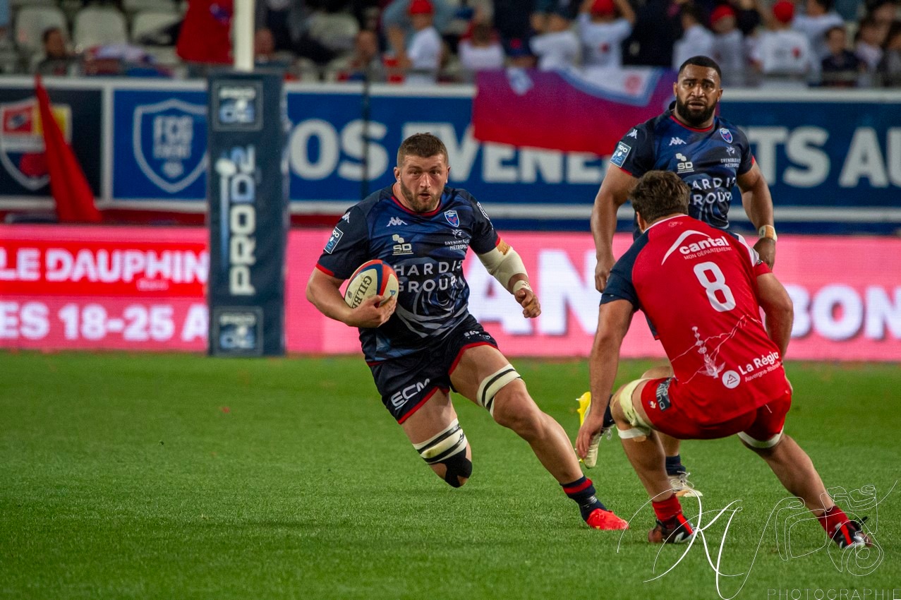
[[440,341],[469,314],[463,259],[499,243],[488,215],[469,192],[445,187],[431,213],[414,213],[388,186],[341,217],[316,265],[347,279],[367,260],[382,259],[397,272],[395,314],[378,328],[360,328],[368,362],[393,359]]

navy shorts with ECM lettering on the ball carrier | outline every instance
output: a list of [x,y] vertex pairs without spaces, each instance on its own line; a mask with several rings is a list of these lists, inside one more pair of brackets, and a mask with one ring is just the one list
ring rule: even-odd
[[497,348],[495,339],[470,314],[460,326],[427,348],[370,364],[382,404],[397,423],[404,423],[435,392],[447,394],[451,390],[451,373],[463,350],[485,345]]

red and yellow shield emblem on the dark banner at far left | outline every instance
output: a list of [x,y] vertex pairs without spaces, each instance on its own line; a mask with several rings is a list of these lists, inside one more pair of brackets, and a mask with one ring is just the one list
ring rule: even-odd
[[[66,141],[72,141],[72,108],[53,105],[53,118]],[[0,105],[0,162],[20,186],[32,192],[50,181],[44,154],[41,111],[35,98]]]

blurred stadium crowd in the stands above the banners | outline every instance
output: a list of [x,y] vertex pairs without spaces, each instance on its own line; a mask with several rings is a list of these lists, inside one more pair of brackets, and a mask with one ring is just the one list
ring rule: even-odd
[[[231,56],[232,0],[0,0],[0,72],[194,77]],[[724,86],[901,85],[896,0],[257,0],[289,79],[471,82],[481,69],[723,66]]]

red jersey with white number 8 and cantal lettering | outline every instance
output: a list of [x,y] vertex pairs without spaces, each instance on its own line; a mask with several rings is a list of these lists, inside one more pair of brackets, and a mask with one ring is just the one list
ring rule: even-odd
[[601,304],[648,316],[698,423],[722,423],[788,391],[760,320],[757,277],[769,268],[741,236],[687,215],[651,225],[611,271]]

